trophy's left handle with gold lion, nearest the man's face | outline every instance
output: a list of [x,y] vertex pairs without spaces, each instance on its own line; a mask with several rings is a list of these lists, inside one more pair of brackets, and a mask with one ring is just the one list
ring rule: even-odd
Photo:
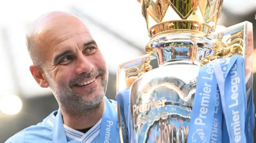
[[[124,90],[125,88],[130,88],[132,83],[135,80],[140,78],[140,76],[142,76],[144,73],[152,70],[150,61],[154,59],[156,59],[156,57],[146,54],[146,55],[137,57],[136,59],[132,59],[131,61],[127,61],[125,63],[120,64],[118,66],[117,73],[116,73],[117,74],[116,75],[116,94],[120,90]],[[128,134],[126,132],[126,129],[122,129],[122,121],[124,120],[125,117],[122,117],[121,110],[122,109],[120,109],[120,105],[117,103],[120,142],[124,143],[124,140],[127,140],[125,139],[125,137],[128,137]]]

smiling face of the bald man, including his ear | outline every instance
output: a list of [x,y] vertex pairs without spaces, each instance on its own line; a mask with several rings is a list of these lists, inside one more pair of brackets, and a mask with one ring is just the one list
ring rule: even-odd
[[102,101],[108,69],[100,49],[80,19],[55,16],[37,34],[36,43],[40,47],[43,70],[33,65],[30,71],[40,86],[51,88],[64,110],[82,112]]

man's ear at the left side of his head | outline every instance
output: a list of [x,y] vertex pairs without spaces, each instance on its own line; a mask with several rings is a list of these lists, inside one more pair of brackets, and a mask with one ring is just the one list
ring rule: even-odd
[[36,65],[31,65],[29,67],[30,72],[36,82],[42,87],[47,88],[49,86],[48,81],[46,80],[46,77],[43,75],[43,71]]

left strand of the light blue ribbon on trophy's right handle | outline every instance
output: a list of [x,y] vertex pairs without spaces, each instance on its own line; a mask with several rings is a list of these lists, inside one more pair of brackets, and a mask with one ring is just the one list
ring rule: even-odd
[[220,120],[218,112],[217,114],[214,113],[217,101],[217,81],[213,67],[214,64],[208,63],[200,68],[198,74],[188,143],[210,143],[211,139],[218,140],[219,138],[220,133],[218,133],[218,130],[216,131],[216,135],[214,135],[216,137],[211,138],[213,121],[216,119],[216,123],[218,123]]

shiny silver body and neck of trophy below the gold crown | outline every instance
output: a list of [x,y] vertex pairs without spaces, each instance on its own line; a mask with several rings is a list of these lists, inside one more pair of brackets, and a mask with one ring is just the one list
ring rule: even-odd
[[205,44],[205,37],[192,41],[192,35],[163,36],[152,43],[158,59],[162,59],[159,67],[143,74],[131,86],[132,137],[138,143],[185,143],[200,69],[198,61],[211,50],[199,47],[198,60],[192,60],[189,57],[194,57],[194,44]]

